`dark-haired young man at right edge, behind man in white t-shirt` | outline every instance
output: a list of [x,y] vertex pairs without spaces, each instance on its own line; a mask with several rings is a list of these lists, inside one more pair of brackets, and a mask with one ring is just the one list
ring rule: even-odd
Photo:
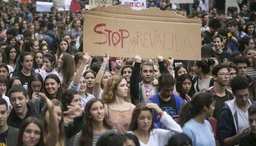
[[239,55],[234,57],[233,62],[237,65],[237,68],[239,70],[237,75],[244,76],[249,81],[250,99],[255,100],[256,99],[256,93],[255,93],[256,83],[249,75],[247,75],[248,67],[250,65],[249,60],[246,57]]

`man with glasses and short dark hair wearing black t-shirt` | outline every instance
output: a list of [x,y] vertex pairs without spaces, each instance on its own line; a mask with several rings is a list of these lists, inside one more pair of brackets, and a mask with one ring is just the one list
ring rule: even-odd
[[215,102],[215,111],[213,112],[213,118],[220,123],[220,117],[224,102],[234,99],[233,94],[229,92],[225,87],[229,83],[229,69],[226,65],[216,65],[211,71],[213,79],[215,79],[215,85],[209,89],[213,95],[213,101]]

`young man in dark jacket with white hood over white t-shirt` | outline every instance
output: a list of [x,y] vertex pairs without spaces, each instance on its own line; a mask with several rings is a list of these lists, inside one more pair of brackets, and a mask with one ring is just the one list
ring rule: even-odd
[[236,76],[231,80],[233,100],[225,102],[221,113],[219,139],[220,145],[237,145],[239,140],[250,132],[248,108],[249,82],[244,76]]

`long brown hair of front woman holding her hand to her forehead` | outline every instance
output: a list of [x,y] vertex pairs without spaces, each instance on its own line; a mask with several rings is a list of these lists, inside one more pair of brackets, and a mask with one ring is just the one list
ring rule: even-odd
[[136,129],[138,129],[137,120],[139,118],[140,112],[142,111],[149,111],[152,116],[151,126],[150,126],[150,129],[148,129],[148,133],[150,133],[150,131],[154,128],[153,111],[147,107],[146,103],[139,103],[134,108],[134,112],[132,113],[132,122],[130,123],[129,131],[135,131]]

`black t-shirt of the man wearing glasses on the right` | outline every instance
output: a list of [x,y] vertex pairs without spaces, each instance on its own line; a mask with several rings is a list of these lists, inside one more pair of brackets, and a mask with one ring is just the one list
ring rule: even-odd
[[227,95],[225,95],[224,97],[217,96],[215,101],[216,102],[215,102],[215,110],[213,112],[213,118],[215,118],[218,121],[218,125],[219,125],[222,108],[225,106],[224,102],[228,101],[228,96]]

